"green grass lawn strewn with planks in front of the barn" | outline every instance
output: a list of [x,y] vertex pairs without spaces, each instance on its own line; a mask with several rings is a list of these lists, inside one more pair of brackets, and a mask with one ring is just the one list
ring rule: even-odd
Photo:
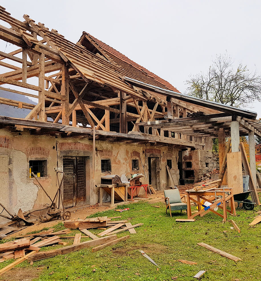
[[[165,215],[165,205],[157,203],[160,208],[152,207],[149,202],[133,203],[129,211],[121,213],[122,219],[130,219],[132,224],[144,223],[136,228],[137,234],[128,231],[117,234],[118,237],[130,234],[130,238],[114,246],[110,246],[92,253],[91,248],[66,255],[34,262],[33,265],[23,262],[17,267],[43,268],[41,274],[34,281],[44,280],[196,280],[193,276],[200,270],[206,270],[201,280],[260,280],[261,273],[261,223],[255,227],[248,224],[253,221],[256,211],[237,210],[237,216],[228,215],[234,219],[241,230],[239,234],[229,221],[222,223],[222,218],[209,213],[204,217],[196,217],[195,222],[177,223],[176,218],[187,218],[186,213],[179,211]],[[121,206],[123,209],[125,206]],[[91,217],[119,216],[114,210],[93,214]],[[120,220],[120,219],[119,219]],[[63,225],[56,225],[56,230],[64,229]],[[102,230],[92,229],[94,234]],[[67,235],[73,235],[78,230]],[[83,234],[84,235],[84,234]],[[64,239],[63,239],[64,240]],[[82,238],[81,241],[89,240]],[[66,240],[64,240],[66,241]],[[67,240],[72,244],[73,240]],[[211,252],[198,242],[205,242],[220,250],[242,258],[234,262]],[[60,246],[43,247],[50,250]],[[148,254],[159,267],[151,264],[141,255],[139,250]],[[197,262],[188,265],[178,262],[178,259]],[[3,268],[13,260],[3,262]],[[5,280],[5,275],[3,279]]]

